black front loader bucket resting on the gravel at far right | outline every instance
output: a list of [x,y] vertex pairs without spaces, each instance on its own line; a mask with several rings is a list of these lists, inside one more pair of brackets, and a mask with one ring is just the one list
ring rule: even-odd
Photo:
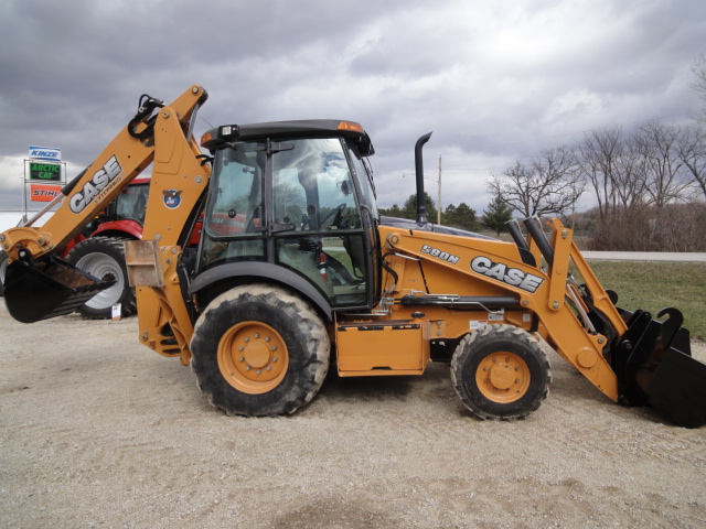
[[682,314],[664,309],[657,317],[665,314],[664,322],[644,311],[630,315],[612,357],[621,402],[650,404],[678,427],[698,428],[706,424],[706,365],[692,358]]

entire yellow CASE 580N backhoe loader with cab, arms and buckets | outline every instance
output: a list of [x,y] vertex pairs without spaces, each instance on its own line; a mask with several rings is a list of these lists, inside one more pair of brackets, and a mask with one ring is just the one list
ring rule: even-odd
[[548,393],[546,343],[616,402],[706,422],[706,365],[691,357],[681,313],[665,309],[659,322],[619,309],[558,220],[512,223],[512,242],[427,222],[430,134],[415,148],[417,218],[389,218],[375,205],[374,149],[359,123],[226,125],[199,144],[206,97],[197,85],[170,105],[142,96],[44,225],[0,235],[14,319],[68,314],[110,285],[57,253],[152,163],[142,240],[125,245],[138,337],[191,364],[228,414],[295,412],[330,363],[364,377],[447,361],[472,413],[524,418]]

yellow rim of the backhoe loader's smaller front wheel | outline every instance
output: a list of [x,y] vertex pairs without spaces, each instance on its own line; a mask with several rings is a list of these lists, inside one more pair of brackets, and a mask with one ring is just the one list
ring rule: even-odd
[[488,400],[499,403],[521,399],[530,388],[530,368],[514,353],[488,355],[478,366],[475,384]]

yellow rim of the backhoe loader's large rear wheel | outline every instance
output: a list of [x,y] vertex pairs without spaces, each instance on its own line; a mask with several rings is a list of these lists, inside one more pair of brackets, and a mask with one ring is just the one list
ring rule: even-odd
[[245,393],[275,389],[287,375],[289,353],[285,341],[269,325],[242,322],[218,342],[218,367],[227,382]]

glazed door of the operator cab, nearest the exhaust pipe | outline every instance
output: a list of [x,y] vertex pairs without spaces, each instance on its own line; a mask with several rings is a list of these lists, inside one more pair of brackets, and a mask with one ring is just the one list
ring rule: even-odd
[[372,267],[354,171],[340,138],[287,140],[271,158],[275,259],[333,309],[367,307]]

